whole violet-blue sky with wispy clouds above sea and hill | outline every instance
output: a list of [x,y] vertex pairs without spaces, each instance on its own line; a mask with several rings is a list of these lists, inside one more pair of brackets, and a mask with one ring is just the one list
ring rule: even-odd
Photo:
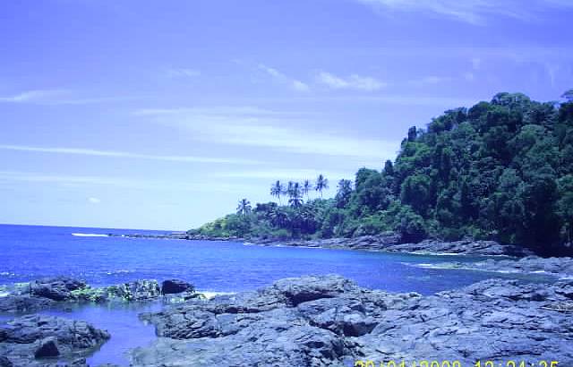
[[0,223],[184,230],[573,87],[569,0],[6,1]]

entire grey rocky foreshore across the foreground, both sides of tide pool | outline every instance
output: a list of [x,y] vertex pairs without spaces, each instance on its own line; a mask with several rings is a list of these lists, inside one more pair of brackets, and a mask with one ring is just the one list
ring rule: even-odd
[[[523,269],[542,264],[529,258],[499,261]],[[545,261],[545,269],[572,267],[571,259]],[[366,289],[331,275],[286,278],[210,300],[177,279],[102,288],[67,277],[38,279],[0,297],[3,312],[28,313],[0,326],[0,366],[86,366],[87,356],[113,343],[106,330],[35,314],[38,310],[161,297],[175,304],[140,315],[155,326],[158,338],[133,349],[133,366],[318,367],[354,366],[359,360],[474,365],[509,359],[573,365],[573,279],[552,284],[490,279],[422,296]]]

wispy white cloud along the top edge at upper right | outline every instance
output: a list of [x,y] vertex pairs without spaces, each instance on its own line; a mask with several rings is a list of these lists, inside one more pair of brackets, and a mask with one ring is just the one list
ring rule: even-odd
[[421,12],[445,16],[470,24],[484,24],[488,16],[499,15],[522,21],[533,21],[540,12],[552,8],[570,8],[568,0],[356,0],[377,10]]

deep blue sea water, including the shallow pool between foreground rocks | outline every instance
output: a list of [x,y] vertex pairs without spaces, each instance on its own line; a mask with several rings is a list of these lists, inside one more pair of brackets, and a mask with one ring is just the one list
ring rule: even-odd
[[[229,242],[77,235],[109,233],[161,232],[0,225],[0,249],[3,252],[0,257],[0,285],[54,275],[81,277],[95,286],[143,278],[161,281],[177,277],[191,282],[200,291],[237,292],[267,286],[283,277],[335,273],[355,280],[360,286],[394,292],[433,294],[488,277],[510,277],[482,271],[421,269],[412,266],[449,260],[476,260],[458,256],[417,256],[260,247]],[[112,308],[89,305],[44,313],[86,320],[112,334],[112,339],[90,357],[90,364],[127,364],[125,351],[134,346],[144,346],[154,338],[153,328],[143,325],[137,314],[158,310],[160,307],[158,303]],[[0,316],[0,320],[5,317]]]

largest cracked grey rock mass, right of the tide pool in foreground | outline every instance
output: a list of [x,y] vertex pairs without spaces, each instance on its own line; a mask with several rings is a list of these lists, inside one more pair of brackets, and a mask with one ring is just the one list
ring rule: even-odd
[[404,359],[573,364],[573,320],[545,307],[573,283],[486,280],[432,296],[391,294],[338,276],[282,279],[256,292],[142,314],[158,340],[133,366],[354,366]]

